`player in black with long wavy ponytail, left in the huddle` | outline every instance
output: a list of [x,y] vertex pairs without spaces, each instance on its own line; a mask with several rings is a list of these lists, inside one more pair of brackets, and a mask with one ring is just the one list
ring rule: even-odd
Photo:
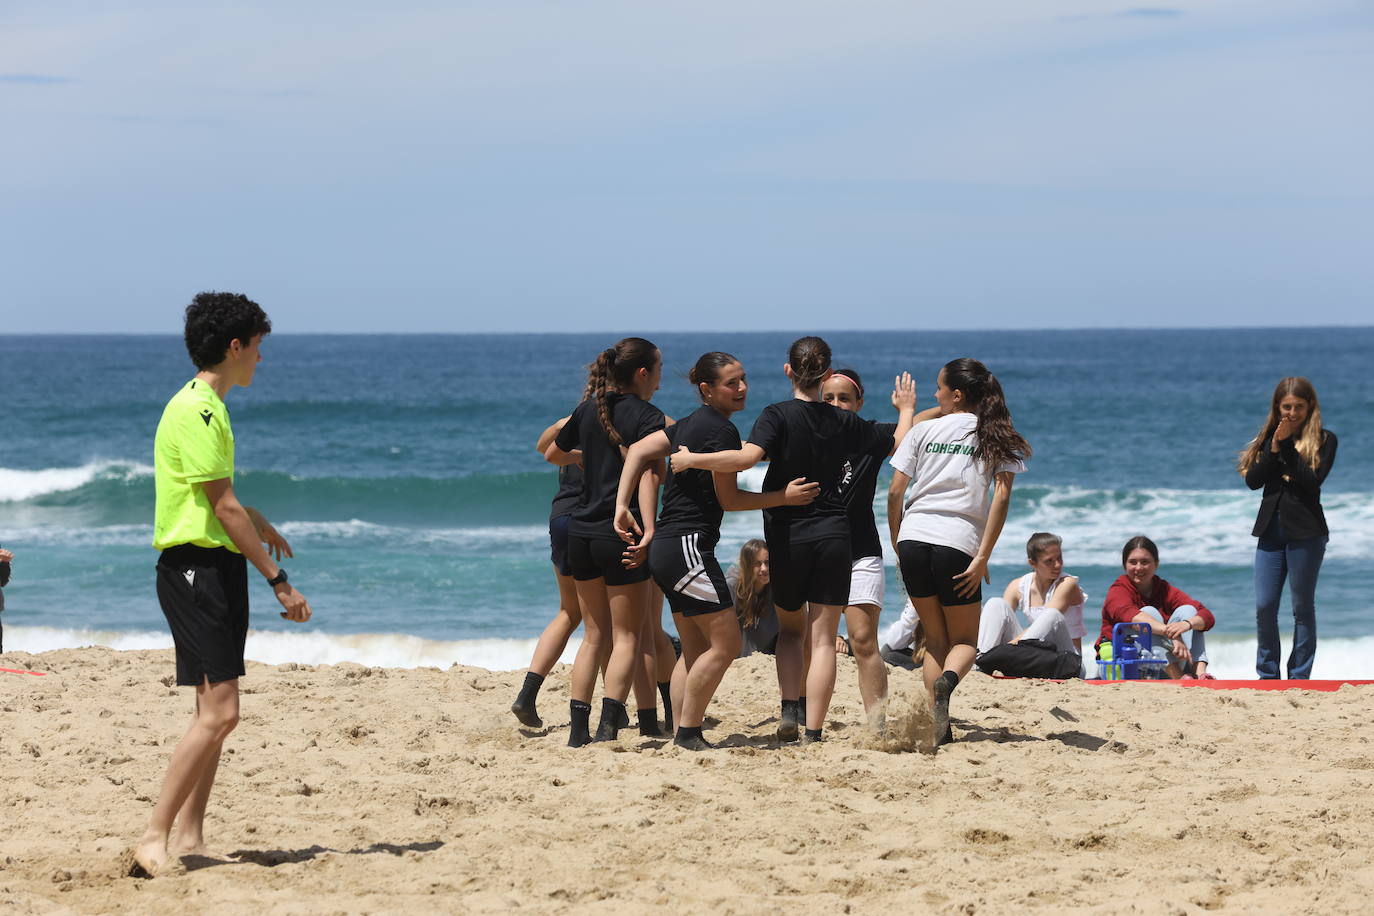
[[[588,397],[577,405],[544,453],[545,459],[559,466],[576,461],[578,449],[583,456],[583,493],[567,534],[567,555],[585,625],[583,644],[573,662],[569,747],[581,747],[591,740],[588,721],[596,661],[606,641],[611,648],[596,737],[614,739],[628,721],[625,699],[642,656],[640,643],[646,630],[647,544],[625,549],[611,516],[625,449],[664,428],[662,411],[649,402],[658,390],[661,375],[662,356],[643,338],[625,338],[603,350],[588,367]],[[651,475],[646,475],[642,496],[646,501],[657,496]]]

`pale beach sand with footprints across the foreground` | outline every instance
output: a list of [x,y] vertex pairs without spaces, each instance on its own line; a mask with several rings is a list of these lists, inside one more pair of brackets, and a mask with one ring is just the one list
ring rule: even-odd
[[[0,655],[0,912],[1369,912],[1374,688],[970,676],[959,742],[889,753],[840,661],[827,740],[774,747],[738,662],[694,754],[563,746],[522,672],[250,663],[206,820],[217,858],[126,876],[190,689],[170,651]],[[892,672],[893,718],[915,676]],[[916,705],[915,709],[922,709]],[[919,715],[918,715],[919,718]],[[595,725],[595,717],[594,717]]]

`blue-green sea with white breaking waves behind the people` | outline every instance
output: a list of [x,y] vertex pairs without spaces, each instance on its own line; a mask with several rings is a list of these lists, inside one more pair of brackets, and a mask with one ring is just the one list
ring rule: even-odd
[[[655,397],[694,409],[684,380],[713,349],[750,372],[749,426],[789,396],[794,334],[649,335],[665,357]],[[1307,375],[1341,437],[1323,501],[1331,540],[1318,589],[1318,676],[1374,677],[1374,328],[826,334],[837,364],[886,417],[900,371],[933,402],[938,367],[984,360],[1002,379],[1035,456],[1018,478],[993,558],[998,589],[1024,569],[1036,530],[1065,538],[1095,602],[1120,545],[1145,533],[1161,575],[1217,615],[1219,673],[1253,665],[1250,537],[1259,496],[1234,470],[1283,375]],[[519,667],[556,602],[548,563],[555,472],[534,439],[576,404],[585,364],[613,341],[588,335],[290,335],[264,345],[251,389],[229,398],[236,490],[291,540],[293,582],[315,619],[282,621],[254,591],[249,654]],[[194,374],[165,336],[0,336],[0,544],[16,553],[5,647],[166,645],[153,592],[151,444],[166,400]],[[757,486],[761,470],[745,475]],[[885,485],[879,486],[882,518]],[[732,514],[720,556],[761,531]],[[889,562],[889,608],[896,571]],[[1287,606],[1285,602],[1285,610]],[[1095,607],[1090,608],[1095,617]],[[1290,629],[1290,628],[1286,628]]]

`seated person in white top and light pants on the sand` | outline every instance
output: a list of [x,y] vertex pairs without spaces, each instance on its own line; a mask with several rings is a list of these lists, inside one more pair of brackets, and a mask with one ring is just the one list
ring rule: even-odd
[[[1083,604],[1088,596],[1076,575],[1063,574],[1063,541],[1037,531],[1026,541],[1030,571],[1007,582],[1002,597],[988,599],[978,621],[978,654],[1022,639],[1052,643],[1061,652],[1083,655]],[[1022,628],[1017,611],[1026,615]]]

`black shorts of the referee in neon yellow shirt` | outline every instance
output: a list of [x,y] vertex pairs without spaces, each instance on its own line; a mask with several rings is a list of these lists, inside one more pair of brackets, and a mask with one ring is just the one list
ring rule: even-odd
[[158,558],[158,602],[176,643],[176,683],[195,687],[243,677],[249,570],[223,547],[180,544]]

